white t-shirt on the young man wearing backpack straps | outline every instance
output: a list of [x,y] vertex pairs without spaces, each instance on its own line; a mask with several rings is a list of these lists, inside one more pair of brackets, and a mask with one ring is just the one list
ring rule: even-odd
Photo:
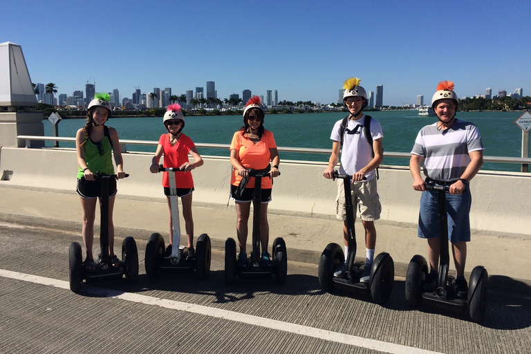
[[[369,164],[373,159],[373,147],[369,145],[363,131],[363,125],[366,115],[362,115],[359,120],[348,120],[346,129],[354,131],[357,129],[358,133],[349,134],[345,129],[343,134],[343,147],[341,152],[341,166],[339,167],[340,174],[352,175],[357,171],[360,171],[363,167]],[[341,123],[342,119],[338,120],[334,124],[330,139],[333,141],[341,141]],[[357,127],[360,125],[361,127]],[[357,127],[357,128],[356,128]],[[371,136],[373,141],[384,137],[382,132],[382,126],[378,120],[371,119]],[[376,171],[370,171],[365,175],[367,180],[371,180],[376,177]]]

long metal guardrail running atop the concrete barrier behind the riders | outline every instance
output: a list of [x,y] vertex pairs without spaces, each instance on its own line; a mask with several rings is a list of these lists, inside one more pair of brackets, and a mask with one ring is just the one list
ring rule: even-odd
[[[44,140],[44,141],[67,141],[75,142],[75,138],[66,138],[58,136],[17,136],[18,140],[26,140],[26,147],[30,147],[31,140]],[[120,139],[120,150],[127,152],[125,145],[153,145],[157,146],[158,141],[154,140],[122,140]],[[207,149],[230,149],[229,144],[209,144],[207,142],[196,143],[196,147],[205,147]],[[332,149],[312,149],[308,147],[277,147],[281,152],[293,152],[293,153],[319,153],[330,155]],[[411,153],[407,152],[393,152],[385,151],[386,158],[411,158]],[[516,163],[516,164],[531,164],[531,158],[513,158],[507,156],[483,156],[484,162],[501,162],[501,163]]]

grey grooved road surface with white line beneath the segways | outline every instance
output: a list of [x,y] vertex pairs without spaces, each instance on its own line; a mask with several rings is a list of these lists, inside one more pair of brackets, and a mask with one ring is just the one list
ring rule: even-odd
[[[0,353],[530,353],[531,298],[490,292],[485,321],[411,309],[404,279],[379,306],[324,293],[317,265],[288,262],[288,279],[225,285],[223,252],[208,279],[145,275],[136,283],[68,288],[68,246],[80,234],[0,223]],[[117,254],[122,240],[115,245]],[[288,253],[289,259],[289,253]]]

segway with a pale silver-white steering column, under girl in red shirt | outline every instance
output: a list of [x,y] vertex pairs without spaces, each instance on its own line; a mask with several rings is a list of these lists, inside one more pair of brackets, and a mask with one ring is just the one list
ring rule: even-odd
[[175,172],[184,170],[176,167],[165,168],[163,165],[158,168],[161,172],[168,172],[171,228],[174,235],[171,243],[171,255],[164,257],[166,250],[164,238],[158,232],[151,234],[146,246],[146,274],[150,279],[154,279],[160,272],[192,273],[196,271],[199,278],[206,279],[210,272],[210,260],[212,258],[209,236],[207,234],[199,236],[195,257],[188,257],[188,248],[180,245],[179,203]]

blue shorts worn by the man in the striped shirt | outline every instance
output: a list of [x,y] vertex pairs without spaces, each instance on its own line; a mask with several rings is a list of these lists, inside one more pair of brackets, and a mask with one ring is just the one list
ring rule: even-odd
[[[420,196],[418,216],[418,236],[434,239],[439,236],[439,207],[437,191],[427,190]],[[446,192],[446,212],[448,217],[448,239],[451,243],[470,241],[470,206],[472,195],[469,186],[463,194]]]

